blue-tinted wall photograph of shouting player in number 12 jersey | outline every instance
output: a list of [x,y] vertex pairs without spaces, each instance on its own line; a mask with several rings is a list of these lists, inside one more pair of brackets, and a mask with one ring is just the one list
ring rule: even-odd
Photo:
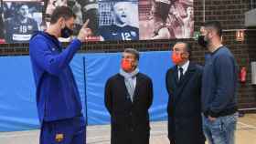
[[99,0],[102,41],[139,40],[138,1]]

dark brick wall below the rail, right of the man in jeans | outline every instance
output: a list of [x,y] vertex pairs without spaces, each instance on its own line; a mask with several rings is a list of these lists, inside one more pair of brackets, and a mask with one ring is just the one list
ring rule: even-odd
[[[256,31],[246,31],[246,40],[244,42],[236,42],[235,32],[225,32],[224,43],[229,46],[239,64],[239,67],[246,67],[248,70],[246,83],[240,83],[239,104],[240,108],[256,107],[256,87],[251,85],[251,61],[255,60],[255,43],[252,43],[251,34]],[[254,41],[255,41],[254,34]],[[254,51],[254,54],[252,53]]]

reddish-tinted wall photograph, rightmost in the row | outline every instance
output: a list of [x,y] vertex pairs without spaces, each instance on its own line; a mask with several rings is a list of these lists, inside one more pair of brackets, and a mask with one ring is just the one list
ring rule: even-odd
[[192,38],[193,0],[139,0],[140,39]]

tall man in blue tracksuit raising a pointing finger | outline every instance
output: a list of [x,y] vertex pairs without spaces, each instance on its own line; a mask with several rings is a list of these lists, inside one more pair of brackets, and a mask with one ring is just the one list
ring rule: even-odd
[[72,34],[76,15],[69,7],[57,7],[45,32],[29,42],[29,55],[37,86],[40,144],[84,144],[85,120],[78,87],[69,63],[90,35],[87,21],[77,38],[63,49],[59,37]]

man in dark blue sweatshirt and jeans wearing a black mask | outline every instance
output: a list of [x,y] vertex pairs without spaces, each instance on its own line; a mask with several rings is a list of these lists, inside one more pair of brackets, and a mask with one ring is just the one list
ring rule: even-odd
[[198,38],[209,51],[202,78],[203,129],[209,144],[234,144],[238,69],[229,48],[221,44],[221,31],[219,22],[208,22]]

